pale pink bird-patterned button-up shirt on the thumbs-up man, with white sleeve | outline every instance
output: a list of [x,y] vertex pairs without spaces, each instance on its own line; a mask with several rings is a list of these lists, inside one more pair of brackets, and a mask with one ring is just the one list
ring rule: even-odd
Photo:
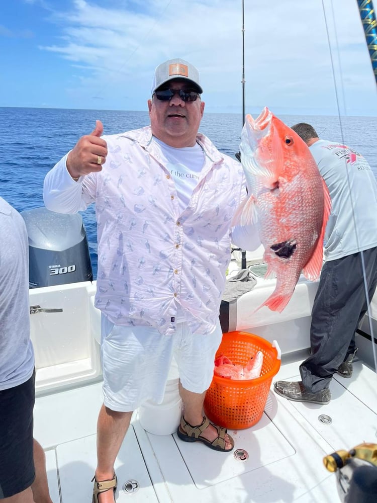
[[200,181],[179,209],[150,127],[102,137],[103,170],[74,182],[66,156],[47,174],[46,207],[75,213],[96,202],[95,305],[113,323],[175,331],[177,307],[194,332],[215,328],[230,260],[231,222],[246,186],[241,164],[203,134]]

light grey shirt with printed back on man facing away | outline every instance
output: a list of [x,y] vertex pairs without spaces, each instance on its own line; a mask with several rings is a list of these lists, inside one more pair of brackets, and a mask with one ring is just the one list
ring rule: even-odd
[[330,192],[325,258],[335,260],[377,246],[377,182],[366,159],[339,143],[310,147]]

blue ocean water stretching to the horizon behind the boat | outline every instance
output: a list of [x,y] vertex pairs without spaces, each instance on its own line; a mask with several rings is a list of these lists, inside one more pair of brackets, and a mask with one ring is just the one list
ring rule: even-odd
[[[377,117],[281,115],[279,118],[289,126],[308,122],[321,138],[351,146],[368,160],[377,176]],[[46,173],[82,135],[94,129],[96,119],[104,124],[104,134],[149,124],[148,112],[0,107],[0,195],[18,211],[43,206]],[[241,129],[241,114],[205,113],[200,127],[219,150],[230,156],[239,150]],[[81,214],[96,278],[97,231],[93,205]]]

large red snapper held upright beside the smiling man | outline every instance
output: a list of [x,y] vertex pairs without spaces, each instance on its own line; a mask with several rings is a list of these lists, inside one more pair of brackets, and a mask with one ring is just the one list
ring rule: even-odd
[[320,275],[329,191],[308,145],[268,108],[256,120],[246,116],[240,151],[249,197],[234,223],[257,225],[265,278],[276,276],[275,290],[260,307],[281,312],[301,272],[311,281]]

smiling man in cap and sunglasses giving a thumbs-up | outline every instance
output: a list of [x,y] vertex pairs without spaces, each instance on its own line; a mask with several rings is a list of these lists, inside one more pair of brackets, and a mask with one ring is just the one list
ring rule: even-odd
[[[184,403],[178,437],[218,451],[234,446],[203,416],[203,402],[222,339],[232,220],[246,185],[241,165],[198,133],[202,92],[192,64],[162,63],[148,100],[150,126],[102,136],[97,121],[45,179],[52,211],[96,203],[105,400],[94,503],[113,503],[114,462],[132,411],[145,400],[162,401],[173,355]],[[259,244],[252,229],[238,227],[248,249]]]

